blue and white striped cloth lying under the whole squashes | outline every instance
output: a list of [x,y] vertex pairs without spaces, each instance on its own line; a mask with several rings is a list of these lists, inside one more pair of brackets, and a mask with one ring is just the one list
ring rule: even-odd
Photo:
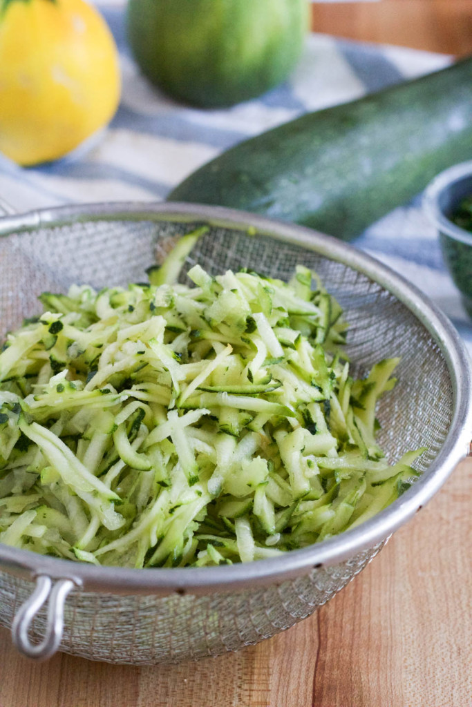
[[[287,83],[226,110],[197,110],[174,103],[139,76],[125,40],[121,0],[103,0],[100,9],[120,50],[120,108],[106,132],[69,158],[22,170],[0,156],[0,197],[18,211],[73,201],[161,200],[197,167],[248,136],[451,61],[440,54],[311,35]],[[356,245],[420,286],[472,352],[471,322],[420,197],[374,223]]]

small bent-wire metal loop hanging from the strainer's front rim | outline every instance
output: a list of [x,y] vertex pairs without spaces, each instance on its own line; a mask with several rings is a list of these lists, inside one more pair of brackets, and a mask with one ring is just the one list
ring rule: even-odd
[[[64,603],[74,586],[70,579],[59,579],[54,584],[47,575],[38,575],[33,594],[18,609],[11,624],[11,637],[20,653],[27,658],[46,660],[57,651],[64,629]],[[48,598],[45,636],[40,643],[31,643],[28,636],[31,624]]]

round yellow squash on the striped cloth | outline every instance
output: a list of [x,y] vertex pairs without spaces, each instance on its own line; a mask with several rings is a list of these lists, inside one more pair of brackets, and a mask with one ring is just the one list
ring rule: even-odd
[[113,117],[117,49],[84,0],[0,0],[0,152],[21,165],[74,150]]

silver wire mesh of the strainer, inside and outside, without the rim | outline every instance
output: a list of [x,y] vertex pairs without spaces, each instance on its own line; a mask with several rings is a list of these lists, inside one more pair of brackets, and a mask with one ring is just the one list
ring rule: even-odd
[[[0,239],[2,333],[38,313],[36,297],[70,284],[100,288],[145,281],[146,267],[161,262],[176,238],[198,224],[169,221],[76,221],[67,226]],[[350,322],[347,354],[356,375],[386,356],[400,356],[399,382],[379,409],[379,441],[388,457],[426,446],[425,471],[449,430],[453,397],[449,371],[437,344],[418,319],[379,284],[355,269],[267,236],[211,228],[189,258],[213,274],[251,267],[288,279],[302,263],[316,269]],[[381,545],[331,567],[268,588],[204,597],[100,595],[74,591],[66,605],[61,649],[96,660],[175,662],[237,650],[287,629],[328,601],[364,568]],[[0,624],[9,626],[33,585],[0,572]],[[40,613],[35,631],[44,631]]]

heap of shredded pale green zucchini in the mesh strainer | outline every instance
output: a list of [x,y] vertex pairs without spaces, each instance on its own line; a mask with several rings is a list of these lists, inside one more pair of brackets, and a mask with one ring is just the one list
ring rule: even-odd
[[[0,542],[74,561],[272,557],[371,518],[423,450],[389,465],[376,403],[398,359],[352,380],[316,274],[199,265],[155,284],[43,293],[0,354]],[[186,239],[186,240],[185,240]]]

